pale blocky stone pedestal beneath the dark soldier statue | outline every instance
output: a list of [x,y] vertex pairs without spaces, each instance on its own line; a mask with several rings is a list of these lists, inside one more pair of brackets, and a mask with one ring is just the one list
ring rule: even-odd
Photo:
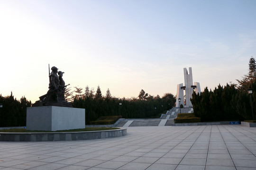
[[42,106],[27,108],[27,130],[68,130],[85,128],[85,109]]

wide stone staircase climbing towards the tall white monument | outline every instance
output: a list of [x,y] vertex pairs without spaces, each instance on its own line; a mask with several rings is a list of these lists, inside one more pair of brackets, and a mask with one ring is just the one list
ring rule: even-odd
[[192,108],[174,107],[162,114],[160,119],[126,119],[120,121],[116,127],[144,127],[144,126],[172,126],[178,113],[192,113]]

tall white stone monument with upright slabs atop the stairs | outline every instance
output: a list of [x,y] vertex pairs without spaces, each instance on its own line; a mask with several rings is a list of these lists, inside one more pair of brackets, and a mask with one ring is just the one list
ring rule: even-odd
[[[184,81],[185,85],[182,84],[177,85],[177,95],[176,95],[176,107],[179,107],[179,98],[181,99],[181,103],[184,107],[192,107],[192,103],[190,99],[192,98],[192,93],[195,90],[196,93],[201,93],[200,83],[194,82],[193,85],[193,77],[192,77],[192,68],[189,68],[189,74],[187,68],[183,68],[184,70]],[[186,105],[184,105],[184,91],[186,96]]]

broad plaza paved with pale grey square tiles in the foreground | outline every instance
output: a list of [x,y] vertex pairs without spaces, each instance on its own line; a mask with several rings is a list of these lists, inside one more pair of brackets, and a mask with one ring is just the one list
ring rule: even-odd
[[0,170],[256,170],[256,127],[127,127],[127,136],[0,142]]

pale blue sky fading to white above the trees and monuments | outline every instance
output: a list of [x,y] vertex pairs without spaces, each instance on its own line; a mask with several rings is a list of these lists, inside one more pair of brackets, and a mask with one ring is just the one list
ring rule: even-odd
[[64,81],[115,97],[176,95],[183,68],[214,89],[256,58],[256,0],[0,0],[0,93],[31,102]]

